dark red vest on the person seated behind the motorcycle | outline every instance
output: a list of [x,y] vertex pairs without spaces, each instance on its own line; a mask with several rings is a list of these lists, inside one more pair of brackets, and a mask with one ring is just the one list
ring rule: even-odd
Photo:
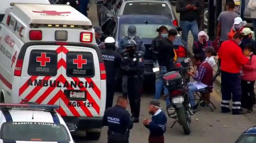
[[211,68],[210,64],[207,62],[204,62],[203,64],[201,64],[199,67],[205,67],[206,68],[206,72],[204,74],[203,79],[201,80],[202,83],[208,85],[207,90],[211,93],[212,92],[212,86],[213,86],[213,81],[212,78],[214,77],[214,73],[212,72],[213,69]]

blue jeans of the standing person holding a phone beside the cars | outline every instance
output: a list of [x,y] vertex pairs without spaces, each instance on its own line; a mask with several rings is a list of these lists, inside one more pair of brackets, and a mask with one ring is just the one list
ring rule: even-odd
[[182,40],[184,41],[185,45],[187,46],[187,37],[189,31],[191,31],[193,37],[194,37],[194,42],[198,41],[198,25],[197,21],[193,22],[188,22],[188,21],[180,21],[180,27],[182,28]]

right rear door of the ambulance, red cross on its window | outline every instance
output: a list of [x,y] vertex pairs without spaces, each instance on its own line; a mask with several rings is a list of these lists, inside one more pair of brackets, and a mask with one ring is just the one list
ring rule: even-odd
[[61,69],[65,81],[61,87],[63,94],[60,106],[63,110],[60,115],[99,117],[101,75],[96,50],[89,47],[62,46],[62,59],[67,66]]

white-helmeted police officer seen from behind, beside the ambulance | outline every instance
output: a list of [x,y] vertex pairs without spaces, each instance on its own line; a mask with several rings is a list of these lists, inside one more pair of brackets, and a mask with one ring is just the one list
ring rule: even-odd
[[121,55],[116,52],[115,39],[108,37],[104,41],[105,49],[101,50],[106,69],[106,108],[112,107],[115,93],[115,77],[120,68]]

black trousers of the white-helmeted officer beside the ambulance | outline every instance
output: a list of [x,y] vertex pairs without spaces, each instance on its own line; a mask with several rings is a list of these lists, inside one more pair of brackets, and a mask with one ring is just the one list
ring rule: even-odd
[[113,105],[113,99],[115,94],[115,82],[106,82],[106,107],[109,108]]

